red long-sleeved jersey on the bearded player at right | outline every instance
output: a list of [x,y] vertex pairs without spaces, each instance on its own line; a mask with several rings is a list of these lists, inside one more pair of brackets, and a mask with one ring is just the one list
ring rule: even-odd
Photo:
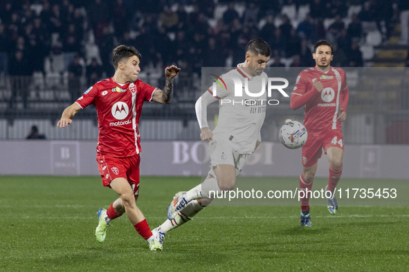
[[[321,81],[324,87],[321,93],[313,86],[316,80]],[[320,133],[341,129],[336,117],[340,108],[347,111],[348,99],[347,77],[343,69],[330,67],[329,71],[322,72],[313,67],[302,70],[298,75],[290,106],[293,109],[304,106],[304,126],[308,133]]]

